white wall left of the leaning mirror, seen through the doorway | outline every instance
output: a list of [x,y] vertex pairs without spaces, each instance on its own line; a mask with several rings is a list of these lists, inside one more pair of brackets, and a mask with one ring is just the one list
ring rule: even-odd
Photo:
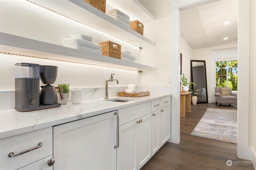
[[182,53],[182,73],[191,81],[190,60],[192,59],[192,48],[188,43],[180,37],[180,53]]

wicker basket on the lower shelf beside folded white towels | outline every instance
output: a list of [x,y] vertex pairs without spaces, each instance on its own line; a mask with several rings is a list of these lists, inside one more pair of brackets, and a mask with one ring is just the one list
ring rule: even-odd
[[121,59],[121,45],[112,41],[98,43],[101,46],[102,55]]

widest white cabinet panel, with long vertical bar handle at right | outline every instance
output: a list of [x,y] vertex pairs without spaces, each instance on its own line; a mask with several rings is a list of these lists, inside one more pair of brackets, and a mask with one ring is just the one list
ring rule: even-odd
[[116,170],[113,112],[53,128],[54,170]]

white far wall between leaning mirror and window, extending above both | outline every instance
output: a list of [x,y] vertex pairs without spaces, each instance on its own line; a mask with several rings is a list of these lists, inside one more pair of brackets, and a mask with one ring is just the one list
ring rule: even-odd
[[193,49],[192,60],[205,60],[206,62],[206,76],[207,76],[207,88],[208,88],[208,102],[212,102],[212,66],[211,66],[211,51],[216,49],[226,49],[237,47],[237,41],[217,45],[209,48]]

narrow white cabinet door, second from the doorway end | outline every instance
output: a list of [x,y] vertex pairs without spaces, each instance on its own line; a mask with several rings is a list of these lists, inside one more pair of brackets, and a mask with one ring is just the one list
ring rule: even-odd
[[151,113],[151,153],[152,156],[160,148],[160,110]]

